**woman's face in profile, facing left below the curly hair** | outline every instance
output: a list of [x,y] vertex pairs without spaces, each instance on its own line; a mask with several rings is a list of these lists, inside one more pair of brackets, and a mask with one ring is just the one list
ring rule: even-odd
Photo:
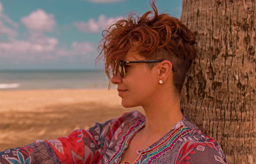
[[[137,52],[128,52],[123,61],[139,61],[143,57]],[[113,75],[111,82],[117,85],[118,96],[124,107],[144,106],[150,102],[157,89],[158,76],[156,69],[150,69],[147,63],[129,63],[124,78],[119,73]]]

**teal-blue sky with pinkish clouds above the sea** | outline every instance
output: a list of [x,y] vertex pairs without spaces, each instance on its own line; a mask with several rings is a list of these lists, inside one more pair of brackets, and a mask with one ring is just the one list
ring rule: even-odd
[[[156,0],[180,18],[182,0]],[[102,30],[149,0],[0,0],[0,70],[101,70]]]

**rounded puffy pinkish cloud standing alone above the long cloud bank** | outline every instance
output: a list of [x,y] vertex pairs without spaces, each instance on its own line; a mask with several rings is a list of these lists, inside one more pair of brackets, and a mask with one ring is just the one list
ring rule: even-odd
[[41,9],[31,12],[27,17],[22,17],[21,22],[32,31],[51,32],[56,26],[53,15]]

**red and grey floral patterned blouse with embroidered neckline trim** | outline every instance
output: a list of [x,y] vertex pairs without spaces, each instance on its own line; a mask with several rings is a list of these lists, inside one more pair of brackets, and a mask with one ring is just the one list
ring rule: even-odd
[[[119,163],[131,138],[145,126],[138,111],[96,123],[88,130],[75,130],[56,140],[35,143],[0,152],[0,164],[29,163]],[[133,163],[224,164],[225,156],[214,138],[204,135],[186,117],[163,138],[143,151]]]

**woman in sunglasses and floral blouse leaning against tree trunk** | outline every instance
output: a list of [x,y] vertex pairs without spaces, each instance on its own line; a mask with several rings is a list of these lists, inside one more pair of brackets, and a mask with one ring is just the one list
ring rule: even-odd
[[[195,58],[191,31],[178,19],[148,11],[119,20],[103,33],[100,57],[117,85],[122,117],[56,140],[7,149],[0,163],[226,163],[214,138],[189,123],[180,89]],[[152,15],[152,13],[154,15]],[[111,73],[112,72],[112,73]]]

